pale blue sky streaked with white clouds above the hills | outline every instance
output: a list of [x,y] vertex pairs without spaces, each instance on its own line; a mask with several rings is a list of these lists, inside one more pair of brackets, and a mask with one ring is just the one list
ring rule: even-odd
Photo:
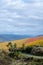
[[43,0],[0,0],[0,34],[42,35]]

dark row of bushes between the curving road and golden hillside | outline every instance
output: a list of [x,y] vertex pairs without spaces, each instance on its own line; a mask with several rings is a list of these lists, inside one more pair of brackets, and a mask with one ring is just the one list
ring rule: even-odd
[[22,48],[20,50],[22,53],[37,55],[37,56],[43,56],[43,47],[40,45],[34,45],[34,46],[25,46],[25,44],[22,45]]

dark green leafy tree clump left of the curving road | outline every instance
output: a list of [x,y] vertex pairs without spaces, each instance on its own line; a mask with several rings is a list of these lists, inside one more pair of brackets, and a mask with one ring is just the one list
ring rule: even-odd
[[12,57],[12,58],[15,58],[15,57],[19,58],[20,51],[18,51],[16,43],[14,45],[11,42],[8,43],[8,50],[9,50],[8,55],[10,57]]

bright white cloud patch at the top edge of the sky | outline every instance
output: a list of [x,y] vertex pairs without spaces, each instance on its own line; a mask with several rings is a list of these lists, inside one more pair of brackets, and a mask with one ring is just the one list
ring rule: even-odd
[[26,5],[22,0],[6,0],[5,3],[13,9],[22,9]]

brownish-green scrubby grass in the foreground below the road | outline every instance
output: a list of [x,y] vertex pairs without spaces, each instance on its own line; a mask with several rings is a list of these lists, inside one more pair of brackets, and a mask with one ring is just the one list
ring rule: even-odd
[[[24,56],[24,55],[23,55]],[[28,59],[29,58],[29,59]],[[3,54],[0,55],[0,65],[43,65],[43,59],[40,58],[42,61],[37,61],[39,58],[36,59],[30,59],[31,56],[29,57],[25,54],[24,57],[21,57],[21,59],[12,59],[8,57],[7,55],[3,56]],[[28,59],[28,60],[27,60]]]

